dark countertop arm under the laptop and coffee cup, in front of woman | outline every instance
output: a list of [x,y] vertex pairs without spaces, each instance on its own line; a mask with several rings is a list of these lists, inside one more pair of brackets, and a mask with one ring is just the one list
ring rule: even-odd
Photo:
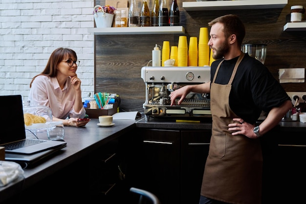
[[[0,202],[17,195],[74,161],[92,153],[109,141],[129,133],[135,128],[135,120],[113,120],[112,127],[99,127],[98,119],[91,119],[85,127],[65,127],[67,146],[44,162],[24,169],[24,178],[19,178],[4,187],[0,187]],[[39,136],[40,139],[47,139]]]

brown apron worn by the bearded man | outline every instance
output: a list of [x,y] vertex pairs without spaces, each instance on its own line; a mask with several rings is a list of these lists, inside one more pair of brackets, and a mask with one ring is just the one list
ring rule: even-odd
[[261,204],[262,151],[259,139],[232,136],[228,124],[238,117],[229,107],[229,94],[241,53],[226,85],[211,84],[213,118],[209,155],[205,164],[201,195],[232,204]]

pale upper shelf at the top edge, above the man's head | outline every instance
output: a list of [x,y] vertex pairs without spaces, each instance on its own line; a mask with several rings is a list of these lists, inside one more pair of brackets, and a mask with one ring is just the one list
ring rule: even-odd
[[183,2],[186,11],[284,8],[288,0],[219,0]]

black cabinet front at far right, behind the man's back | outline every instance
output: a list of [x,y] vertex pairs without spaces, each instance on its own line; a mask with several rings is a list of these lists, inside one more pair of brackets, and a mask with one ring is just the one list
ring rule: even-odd
[[276,186],[281,196],[277,203],[303,203],[306,183],[305,131],[284,132],[278,135]]

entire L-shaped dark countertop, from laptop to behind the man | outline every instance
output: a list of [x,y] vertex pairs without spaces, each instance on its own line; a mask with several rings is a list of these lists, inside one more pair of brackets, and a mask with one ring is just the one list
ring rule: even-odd
[[[191,119],[186,119],[191,120]],[[10,197],[17,195],[22,190],[34,185],[48,175],[63,169],[72,162],[85,157],[97,150],[111,140],[124,134],[128,134],[135,128],[153,129],[192,129],[210,130],[211,121],[182,121],[176,122],[174,119],[166,120],[150,119],[146,121],[144,117],[137,120],[114,120],[112,127],[99,127],[98,119],[91,119],[85,127],[65,127],[65,141],[67,146],[60,152],[42,163],[24,169],[24,178],[19,178],[4,187],[0,187],[0,203]],[[280,122],[281,130],[306,132],[306,123],[301,122]],[[47,139],[47,136],[40,136],[40,139]]]

